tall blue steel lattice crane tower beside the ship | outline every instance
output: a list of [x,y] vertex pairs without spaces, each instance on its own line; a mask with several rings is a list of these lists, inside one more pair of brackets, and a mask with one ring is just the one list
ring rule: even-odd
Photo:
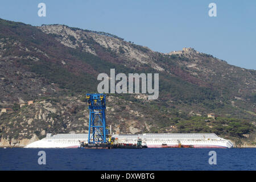
[[106,143],[108,129],[106,128],[106,96],[104,94],[86,94],[88,101],[89,129],[88,143]]

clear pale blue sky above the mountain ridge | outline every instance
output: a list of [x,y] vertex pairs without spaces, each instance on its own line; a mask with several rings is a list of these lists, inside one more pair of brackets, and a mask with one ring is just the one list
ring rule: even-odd
[[[39,3],[46,4],[45,17],[38,16]],[[209,16],[210,3],[217,16]],[[256,69],[255,0],[2,0],[0,18],[108,32],[163,53],[192,47]]]

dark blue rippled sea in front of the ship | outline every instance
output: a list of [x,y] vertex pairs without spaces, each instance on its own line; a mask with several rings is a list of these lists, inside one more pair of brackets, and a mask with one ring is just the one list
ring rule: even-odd
[[[45,165],[38,164],[39,151],[46,152]],[[210,151],[216,165],[208,162]],[[256,148],[0,148],[0,170],[256,170]]]

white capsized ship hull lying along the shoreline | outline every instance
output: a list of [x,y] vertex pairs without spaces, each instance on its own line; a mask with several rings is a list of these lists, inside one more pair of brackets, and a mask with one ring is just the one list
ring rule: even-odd
[[[148,148],[232,148],[233,144],[212,133],[163,133],[112,135],[118,143],[136,144],[138,138]],[[77,148],[80,141],[88,142],[88,134],[47,134],[46,138],[28,144],[25,148]]]

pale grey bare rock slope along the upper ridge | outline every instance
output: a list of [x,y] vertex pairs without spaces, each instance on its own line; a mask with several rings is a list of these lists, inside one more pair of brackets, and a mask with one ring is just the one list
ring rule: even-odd
[[64,25],[41,26],[38,28],[46,34],[53,34],[56,40],[64,44],[64,46],[79,48],[82,51],[101,57],[98,47],[92,46],[94,42],[104,49],[111,50],[127,66],[138,67],[142,64],[150,64],[152,68],[158,71],[164,70],[152,59],[152,55],[155,55],[155,52],[151,51],[151,49],[125,42],[115,36],[106,36],[102,35],[101,32],[85,31]]

